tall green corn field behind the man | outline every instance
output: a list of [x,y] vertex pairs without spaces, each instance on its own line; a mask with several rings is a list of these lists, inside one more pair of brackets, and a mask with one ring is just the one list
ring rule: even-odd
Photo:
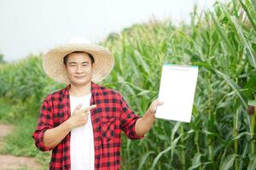
[[[215,3],[189,24],[150,20],[101,45],[115,59],[102,85],[140,116],[156,99],[164,62],[199,65],[191,122],[157,120],[142,140],[122,136],[122,169],[256,169],[256,1]],[[64,85],[46,77],[42,56],[0,66],[1,98],[38,116],[42,99]],[[188,84],[189,86],[189,84]],[[36,122],[35,122],[36,123]]]

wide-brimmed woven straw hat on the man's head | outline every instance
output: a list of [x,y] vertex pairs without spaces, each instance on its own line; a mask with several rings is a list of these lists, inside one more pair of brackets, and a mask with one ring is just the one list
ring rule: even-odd
[[92,44],[83,37],[73,37],[67,44],[50,49],[43,58],[45,73],[56,82],[69,84],[63,58],[74,51],[84,51],[93,56],[95,62],[92,82],[101,82],[113,69],[113,54],[102,46]]

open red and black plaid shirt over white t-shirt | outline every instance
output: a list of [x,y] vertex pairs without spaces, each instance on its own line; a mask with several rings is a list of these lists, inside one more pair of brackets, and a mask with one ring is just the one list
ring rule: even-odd
[[[68,89],[63,88],[49,94],[41,107],[38,125],[33,139],[39,150],[50,150],[44,145],[43,136],[47,129],[65,122],[70,114]],[[94,135],[95,169],[119,169],[121,130],[130,139],[141,139],[135,133],[137,116],[124,98],[112,89],[104,88],[91,82],[90,105],[97,105],[90,110]],[[52,150],[49,169],[70,169],[70,133]]]

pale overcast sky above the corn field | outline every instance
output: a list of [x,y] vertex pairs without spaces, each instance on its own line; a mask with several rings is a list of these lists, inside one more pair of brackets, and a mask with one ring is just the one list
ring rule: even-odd
[[29,54],[44,54],[71,37],[97,43],[111,32],[147,22],[152,16],[188,22],[195,3],[201,11],[215,1],[0,0],[0,54],[12,62]]

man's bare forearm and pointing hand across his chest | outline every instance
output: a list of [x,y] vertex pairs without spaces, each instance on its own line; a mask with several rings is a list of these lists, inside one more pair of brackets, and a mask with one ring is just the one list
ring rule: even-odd
[[55,148],[61,140],[67,136],[73,128],[84,126],[88,122],[88,111],[96,108],[96,105],[90,105],[84,110],[80,110],[82,105],[78,105],[66,122],[61,123],[58,127],[48,129],[44,133],[44,145],[50,149]]

